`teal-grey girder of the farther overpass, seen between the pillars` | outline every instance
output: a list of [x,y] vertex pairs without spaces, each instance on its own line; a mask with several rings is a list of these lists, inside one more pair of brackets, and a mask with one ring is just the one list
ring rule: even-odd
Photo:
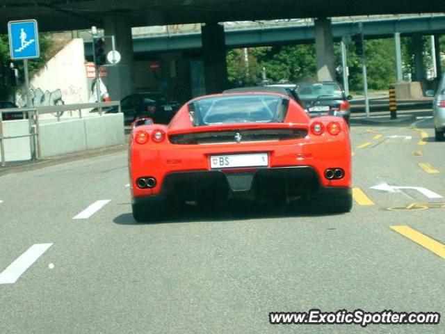
[[[338,41],[343,36],[355,35],[359,31],[357,21],[332,22],[332,35]],[[363,22],[366,39],[391,38],[394,33],[412,35],[434,35],[445,33],[445,15],[392,17],[391,19],[367,19]],[[133,51],[135,54],[164,51],[182,51],[201,49],[201,33],[197,29],[188,33],[152,33],[140,36],[133,33]],[[85,35],[86,40],[90,37]],[[303,44],[314,42],[314,24],[296,24],[283,26],[261,26],[250,29],[225,29],[225,45],[228,48],[261,47],[268,45]],[[92,43],[87,41],[86,56],[92,56]]]

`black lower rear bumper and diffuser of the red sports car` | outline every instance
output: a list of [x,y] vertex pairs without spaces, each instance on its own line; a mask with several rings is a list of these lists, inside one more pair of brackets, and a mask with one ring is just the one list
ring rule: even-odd
[[[348,172],[347,172],[348,173]],[[250,172],[220,170],[170,173],[156,195],[133,197],[133,204],[172,200],[289,200],[297,197],[350,196],[350,187],[323,186],[310,166],[262,168]]]

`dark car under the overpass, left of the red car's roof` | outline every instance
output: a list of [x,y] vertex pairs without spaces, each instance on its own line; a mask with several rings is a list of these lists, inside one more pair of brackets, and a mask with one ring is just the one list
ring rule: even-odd
[[[137,118],[149,117],[155,123],[168,124],[179,109],[179,103],[169,101],[158,92],[134,93],[120,101],[124,123],[131,124]],[[117,113],[118,107],[112,107],[105,113]]]

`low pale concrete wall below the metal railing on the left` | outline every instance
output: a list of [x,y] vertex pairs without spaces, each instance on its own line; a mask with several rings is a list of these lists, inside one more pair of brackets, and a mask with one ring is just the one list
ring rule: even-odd
[[[106,148],[124,144],[123,113],[113,113],[88,118],[72,118],[57,122],[40,122],[40,157]],[[29,134],[28,120],[3,122],[4,136]],[[24,161],[31,159],[29,137],[6,139],[5,160]]]

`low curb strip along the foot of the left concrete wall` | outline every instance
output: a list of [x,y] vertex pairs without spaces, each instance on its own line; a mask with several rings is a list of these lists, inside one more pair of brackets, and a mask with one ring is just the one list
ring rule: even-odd
[[127,148],[128,148],[127,144],[122,144],[122,145],[111,146],[109,148],[99,148],[97,150],[88,150],[83,152],[64,154],[49,159],[42,159],[39,161],[24,161],[23,163],[19,163],[15,166],[0,167],[0,177],[9,174],[24,173],[24,172],[29,172],[31,170],[38,170],[49,166],[65,164],[71,161],[88,159],[91,157],[100,157],[101,155],[122,152],[127,150]]

